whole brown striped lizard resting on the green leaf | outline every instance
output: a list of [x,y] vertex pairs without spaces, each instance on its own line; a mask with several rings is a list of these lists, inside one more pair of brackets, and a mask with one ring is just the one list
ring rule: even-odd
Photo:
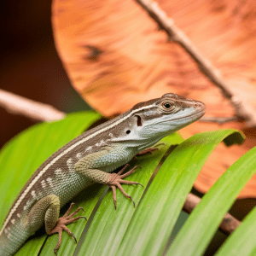
[[59,234],[54,248],[57,254],[62,231],[73,236],[67,224],[85,218],[75,217],[81,207],[70,213],[73,203],[60,218],[61,207],[92,183],[106,184],[113,190],[114,207],[116,188],[132,200],[121,184],[139,184],[123,179],[137,166],[125,174],[122,173],[127,165],[118,173],[113,171],[137,154],[150,151],[148,148],[161,138],[200,119],[205,112],[204,103],[168,93],[137,103],[129,111],[74,138],[45,160],[21,189],[0,231],[0,255],[16,253],[43,225],[48,235]]

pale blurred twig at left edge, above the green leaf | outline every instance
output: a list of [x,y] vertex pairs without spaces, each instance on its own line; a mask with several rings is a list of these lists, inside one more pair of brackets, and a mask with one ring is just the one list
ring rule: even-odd
[[48,104],[34,102],[2,89],[0,89],[0,106],[10,113],[24,115],[37,121],[52,121],[65,117],[65,113]]

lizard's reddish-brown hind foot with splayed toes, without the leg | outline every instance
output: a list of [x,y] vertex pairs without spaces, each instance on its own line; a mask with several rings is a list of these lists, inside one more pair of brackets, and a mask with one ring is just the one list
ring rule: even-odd
[[[85,218],[84,216],[79,216],[76,218],[73,218],[76,214],[79,213],[80,210],[84,209],[82,207],[79,207],[76,211],[74,211],[73,213],[71,213],[70,215],[68,215],[71,212],[71,209],[73,207],[75,203],[71,203],[70,207],[68,208],[67,212],[58,219],[57,224],[55,225],[54,229],[50,231],[50,234],[54,234],[54,233],[59,233],[59,240],[57,245],[55,246],[54,252],[55,255],[57,255],[57,250],[58,248],[61,246],[61,236],[62,236],[62,231],[65,230],[67,231],[69,236],[72,236],[74,241],[77,242],[76,237],[73,235],[73,233],[67,229],[67,224],[73,223],[74,221],[78,220],[79,218]],[[85,218],[87,220],[87,218]]]

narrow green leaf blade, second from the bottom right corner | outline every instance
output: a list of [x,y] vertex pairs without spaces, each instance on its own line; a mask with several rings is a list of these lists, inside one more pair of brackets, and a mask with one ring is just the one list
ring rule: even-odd
[[[255,155],[256,147],[241,156],[224,172],[190,214],[167,255],[201,255],[204,252],[224,214],[228,212],[236,196],[256,172]],[[247,239],[249,240],[249,237]],[[255,246],[254,238],[253,242]]]

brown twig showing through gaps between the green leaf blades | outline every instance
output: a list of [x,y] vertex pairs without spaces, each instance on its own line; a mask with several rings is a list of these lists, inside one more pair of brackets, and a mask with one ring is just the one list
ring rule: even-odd
[[[183,206],[183,210],[185,212],[192,212],[193,209],[200,203],[201,198],[189,193],[185,204]],[[230,213],[226,213],[222,223],[219,225],[219,229],[222,230],[225,234],[229,235],[241,224],[241,222],[234,218]]]

